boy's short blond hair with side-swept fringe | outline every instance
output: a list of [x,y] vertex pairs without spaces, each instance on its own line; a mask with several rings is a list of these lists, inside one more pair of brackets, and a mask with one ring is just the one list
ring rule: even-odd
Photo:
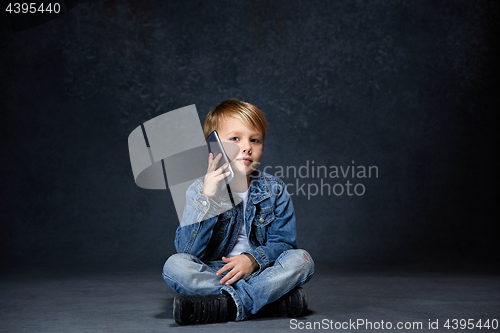
[[257,129],[262,134],[262,140],[265,140],[267,134],[266,116],[255,105],[236,99],[226,99],[219,105],[212,106],[203,124],[205,139],[212,131],[219,128],[222,119],[227,116],[235,117],[250,128]]

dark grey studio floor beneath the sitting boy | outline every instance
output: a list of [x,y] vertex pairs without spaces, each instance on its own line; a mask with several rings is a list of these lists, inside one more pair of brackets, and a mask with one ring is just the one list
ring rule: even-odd
[[[356,268],[316,265],[316,273],[304,289],[309,313],[303,318],[257,318],[180,327],[172,318],[174,293],[161,277],[161,265],[156,271],[10,268],[0,275],[0,332],[500,330],[491,327],[500,320],[500,275],[488,269],[422,264]],[[467,321],[466,328],[461,327],[464,321],[460,319]],[[479,320],[480,325],[489,320],[490,328],[479,329]]]

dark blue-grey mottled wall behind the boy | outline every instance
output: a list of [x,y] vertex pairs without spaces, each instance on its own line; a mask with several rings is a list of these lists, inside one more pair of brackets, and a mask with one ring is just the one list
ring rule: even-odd
[[134,184],[127,137],[189,104],[203,121],[226,98],[267,115],[265,165],[378,167],[351,179],[362,196],[294,196],[316,261],[498,259],[498,13],[468,0],[80,1],[16,33],[3,20],[2,262],[161,267],[178,221],[168,191]]

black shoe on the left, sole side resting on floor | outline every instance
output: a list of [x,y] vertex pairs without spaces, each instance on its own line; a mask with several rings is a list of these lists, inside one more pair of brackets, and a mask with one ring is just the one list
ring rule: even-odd
[[190,296],[177,294],[174,298],[174,319],[179,325],[222,323],[234,320],[230,314],[234,301],[227,294]]

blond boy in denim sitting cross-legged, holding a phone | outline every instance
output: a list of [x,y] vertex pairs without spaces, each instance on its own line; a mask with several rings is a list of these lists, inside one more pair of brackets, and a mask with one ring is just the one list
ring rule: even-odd
[[[195,181],[186,192],[175,235],[178,253],[163,268],[165,282],[178,293],[174,319],[179,325],[239,321],[262,308],[303,316],[307,298],[299,286],[314,274],[314,262],[297,249],[295,212],[285,184],[257,169],[266,118],[252,104],[225,100],[205,119],[205,138],[214,130],[222,142],[239,149],[230,162],[235,178],[229,187],[241,200],[222,209],[228,203],[217,196],[219,183],[230,172],[227,164],[216,169],[221,155],[210,154],[204,181]],[[217,210],[221,213],[213,214]]]

